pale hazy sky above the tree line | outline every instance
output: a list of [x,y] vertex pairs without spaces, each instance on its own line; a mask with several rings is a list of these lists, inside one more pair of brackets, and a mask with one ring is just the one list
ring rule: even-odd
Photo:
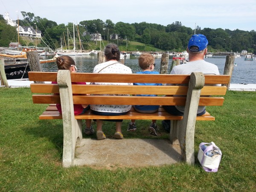
[[163,26],[180,21],[192,29],[256,31],[256,0],[0,0],[0,15],[23,19],[22,11],[65,25],[94,19]]

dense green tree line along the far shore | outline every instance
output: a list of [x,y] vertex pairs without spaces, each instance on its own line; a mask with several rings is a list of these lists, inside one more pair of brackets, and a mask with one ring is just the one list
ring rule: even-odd
[[[34,29],[37,27],[42,35],[43,40],[47,42],[48,46],[55,48],[60,47],[60,40],[68,39],[68,33],[73,37],[73,23],[57,24],[55,21],[48,20],[35,16],[30,12],[21,12],[23,20],[19,20],[20,26],[32,26]],[[100,33],[104,40],[109,40],[110,35],[118,35],[119,42],[123,40],[138,41],[149,46],[157,47],[165,51],[172,50],[185,50],[189,38],[194,33],[204,34],[208,41],[208,49],[214,52],[241,52],[246,49],[249,52],[256,52],[256,32],[254,30],[248,32],[243,30],[230,29],[211,29],[197,26],[195,29],[183,26],[180,21],[175,21],[172,24],[163,26],[156,23],[113,23],[111,20],[105,22],[96,20],[83,20],[76,25],[77,31],[81,34],[86,32],[82,38],[83,47],[88,47],[90,39],[89,34]],[[13,28],[13,29],[12,29]],[[3,15],[0,15],[0,46],[8,47],[9,42],[13,41],[15,27],[7,26]],[[43,46],[43,45],[42,45]]]

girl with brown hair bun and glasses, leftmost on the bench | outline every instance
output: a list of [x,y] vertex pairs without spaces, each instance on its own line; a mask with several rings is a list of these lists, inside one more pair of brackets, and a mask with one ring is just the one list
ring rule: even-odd
[[[77,68],[75,61],[73,58],[67,55],[60,56],[56,59],[56,63],[58,66],[58,70],[69,70],[70,73],[76,73]],[[57,84],[57,82],[52,82],[52,84]],[[72,84],[86,84],[85,82],[72,82]],[[61,104],[56,105],[58,111],[61,111]],[[74,113],[75,115],[80,115],[85,113],[85,111],[90,109],[90,105],[81,105],[81,104],[74,104]],[[84,128],[84,133],[87,135],[94,134],[93,127],[91,125],[91,119],[85,120],[86,127]]]

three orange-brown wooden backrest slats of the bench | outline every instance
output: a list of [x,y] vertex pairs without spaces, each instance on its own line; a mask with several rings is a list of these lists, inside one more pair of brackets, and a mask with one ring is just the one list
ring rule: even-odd
[[[108,74],[108,73],[71,73],[71,81],[77,82],[143,82],[183,84],[173,86],[134,86],[134,85],[81,85],[73,84],[73,94],[93,94],[94,96],[73,95],[74,104],[105,104],[105,105],[185,105],[186,97],[171,97],[170,95],[186,96],[188,92],[189,75],[144,75],[144,74]],[[114,76],[114,78],[113,78]],[[150,78],[148,78],[150,77]],[[230,76],[205,75],[205,85],[201,89],[199,105],[223,105],[226,86],[213,84],[228,84]],[[29,72],[30,81],[57,81],[57,72]],[[187,85],[187,86],[186,86]],[[111,88],[110,88],[111,87]],[[61,103],[58,84],[31,84],[32,93],[51,93],[51,95],[33,95],[34,103]],[[128,95],[159,95],[146,96],[102,96],[97,94],[128,94]],[[162,95],[167,95],[163,97]],[[212,97],[204,97],[210,96]]]

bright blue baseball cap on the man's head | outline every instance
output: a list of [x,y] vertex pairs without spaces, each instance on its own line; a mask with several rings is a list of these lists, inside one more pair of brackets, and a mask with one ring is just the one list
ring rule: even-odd
[[[202,34],[195,34],[195,35],[192,35],[192,37],[189,39],[188,48],[190,51],[198,52],[198,51],[204,50],[207,47],[207,45],[208,45],[208,40],[206,36]],[[196,46],[198,47],[198,49],[194,49],[191,46]]]

